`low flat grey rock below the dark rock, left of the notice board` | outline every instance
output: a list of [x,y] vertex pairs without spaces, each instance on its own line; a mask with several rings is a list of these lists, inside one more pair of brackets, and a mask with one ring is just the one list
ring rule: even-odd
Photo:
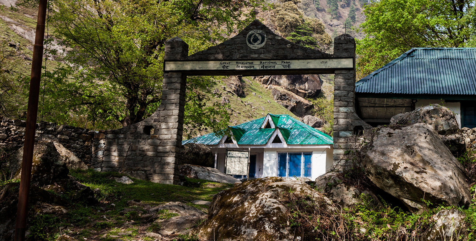
[[180,174],[188,178],[203,179],[208,181],[218,181],[225,183],[240,182],[238,179],[211,167],[201,167],[196,165],[180,165]]

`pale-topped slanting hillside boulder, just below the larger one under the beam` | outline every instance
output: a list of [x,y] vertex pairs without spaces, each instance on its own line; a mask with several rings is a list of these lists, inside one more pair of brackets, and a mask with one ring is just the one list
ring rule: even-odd
[[268,89],[271,89],[271,95],[273,96],[273,99],[278,104],[291,111],[293,114],[299,117],[311,114],[310,111],[313,105],[310,101],[279,86],[270,85],[268,86]]

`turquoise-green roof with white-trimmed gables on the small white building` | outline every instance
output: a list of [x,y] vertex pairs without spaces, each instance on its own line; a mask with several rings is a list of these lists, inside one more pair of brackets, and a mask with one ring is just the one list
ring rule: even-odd
[[[275,130],[281,132],[286,142],[290,145],[330,145],[333,144],[331,136],[318,131],[289,115],[268,114],[276,128],[261,128],[266,117],[262,117],[243,124],[231,126],[231,132],[238,145],[266,145]],[[182,144],[201,143],[205,145],[217,145],[222,139],[215,133],[209,133],[189,140]]]

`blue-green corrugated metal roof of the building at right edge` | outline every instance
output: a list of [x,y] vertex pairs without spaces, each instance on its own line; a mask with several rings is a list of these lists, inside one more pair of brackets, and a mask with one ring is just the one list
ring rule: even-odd
[[415,48],[356,82],[358,93],[476,94],[476,48]]

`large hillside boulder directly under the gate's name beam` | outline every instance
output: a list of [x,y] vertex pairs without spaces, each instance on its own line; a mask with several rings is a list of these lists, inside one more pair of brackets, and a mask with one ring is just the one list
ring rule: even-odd
[[323,81],[317,74],[255,76],[264,85],[277,85],[302,98],[315,98],[321,92]]

